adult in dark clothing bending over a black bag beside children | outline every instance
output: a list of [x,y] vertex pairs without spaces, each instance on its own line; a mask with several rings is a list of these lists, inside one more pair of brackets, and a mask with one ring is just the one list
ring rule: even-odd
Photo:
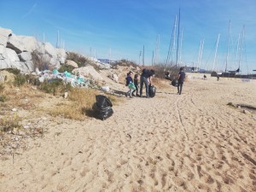
[[152,84],[152,78],[154,76],[154,70],[148,70],[146,68],[143,69],[143,73],[141,75],[141,88],[140,88],[140,96],[143,96],[143,84],[145,84],[146,87],[146,96],[149,98],[148,94],[148,84]]

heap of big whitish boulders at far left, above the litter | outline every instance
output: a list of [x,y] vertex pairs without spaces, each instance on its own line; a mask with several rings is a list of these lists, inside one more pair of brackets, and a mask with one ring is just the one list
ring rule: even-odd
[[57,49],[48,42],[17,36],[10,29],[0,27],[0,69],[17,68],[22,73],[32,73],[38,67],[32,59],[35,52],[44,68],[59,68],[67,56],[64,49]]

